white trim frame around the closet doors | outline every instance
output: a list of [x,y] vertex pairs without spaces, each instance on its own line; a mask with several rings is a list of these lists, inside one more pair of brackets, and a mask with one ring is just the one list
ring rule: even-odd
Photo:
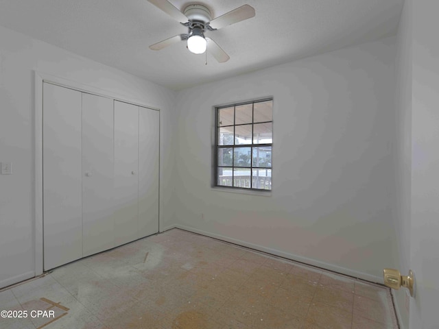
[[149,106],[142,101],[136,99],[127,99],[121,95],[117,95],[108,90],[97,88],[95,86],[89,86],[81,82],[74,82],[71,80],[57,77],[39,71],[34,71],[34,88],[35,88],[35,105],[34,105],[34,263],[35,263],[35,276],[40,276],[43,273],[43,82],[54,84],[60,87],[71,88],[78,90],[82,93],[89,93],[101,97],[113,99],[115,101],[123,101],[125,103],[131,103],[136,106],[148,108],[150,110],[156,110],[159,113],[159,175],[158,175],[158,232],[162,232],[161,221],[161,115],[160,109]]

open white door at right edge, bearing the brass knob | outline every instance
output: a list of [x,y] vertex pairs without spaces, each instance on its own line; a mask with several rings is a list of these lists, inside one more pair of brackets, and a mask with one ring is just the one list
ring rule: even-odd
[[410,328],[439,328],[438,1],[406,0],[412,14],[412,208],[410,265],[417,295]]

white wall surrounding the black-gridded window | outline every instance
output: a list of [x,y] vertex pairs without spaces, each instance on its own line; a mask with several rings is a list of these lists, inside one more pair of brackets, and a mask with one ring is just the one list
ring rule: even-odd
[[[382,282],[396,246],[395,44],[385,38],[180,91],[178,226]],[[267,96],[272,195],[211,188],[213,106]]]

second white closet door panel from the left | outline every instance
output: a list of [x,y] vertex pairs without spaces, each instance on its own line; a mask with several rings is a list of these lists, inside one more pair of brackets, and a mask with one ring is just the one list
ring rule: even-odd
[[113,101],[82,94],[82,243],[84,256],[115,246]]

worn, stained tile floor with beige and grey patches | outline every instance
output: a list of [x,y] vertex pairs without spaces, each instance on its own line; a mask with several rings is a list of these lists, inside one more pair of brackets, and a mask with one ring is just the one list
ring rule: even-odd
[[178,229],[0,291],[0,308],[28,314],[2,329],[398,328],[384,287]]

